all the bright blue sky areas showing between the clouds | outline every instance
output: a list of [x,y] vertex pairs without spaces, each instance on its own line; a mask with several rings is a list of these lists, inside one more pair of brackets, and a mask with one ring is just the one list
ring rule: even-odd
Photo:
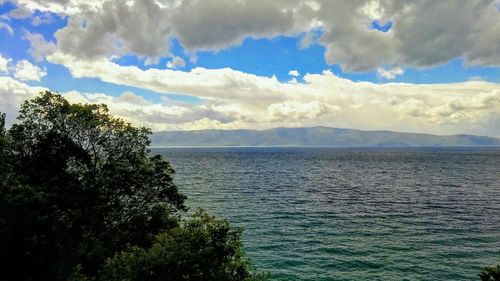
[[[0,5],[0,15],[8,14],[16,6],[12,2],[5,2]],[[34,17],[42,13],[35,12],[32,16],[24,19],[11,19],[10,26],[15,34],[11,36],[6,29],[0,29],[0,38],[4,42],[0,53],[14,61],[28,59],[28,49],[30,42],[24,38],[26,31],[43,35],[48,40],[55,42],[54,33],[67,25],[67,18],[60,17],[55,13],[50,13],[51,22],[39,26],[33,26]],[[378,21],[373,21],[371,28],[380,32],[387,32],[392,26],[391,22],[381,25]],[[321,33],[321,31],[317,31]],[[340,77],[345,77],[353,81],[370,81],[374,83],[386,82],[407,82],[407,83],[450,83],[468,81],[471,79],[481,79],[484,81],[500,82],[500,67],[467,66],[461,58],[455,58],[449,62],[433,67],[409,67],[405,68],[405,73],[395,79],[386,79],[377,74],[376,70],[364,72],[343,72],[339,64],[328,64],[324,58],[325,48],[319,43],[313,43],[307,48],[302,48],[300,42],[305,36],[304,33],[293,36],[276,36],[271,39],[246,38],[241,44],[231,46],[217,51],[200,51],[196,53],[196,61],[190,60],[190,55],[177,39],[173,39],[170,44],[172,53],[184,59],[185,67],[179,70],[189,71],[195,67],[204,68],[232,68],[247,73],[261,76],[275,75],[280,81],[291,79],[288,75],[290,70],[297,70],[299,73],[321,73],[325,69],[331,69],[333,73]],[[319,37],[319,35],[317,35]],[[165,68],[170,58],[160,59],[157,64],[145,65],[145,60],[134,54],[125,55],[116,60],[120,65],[135,65],[142,69]],[[121,94],[124,90],[122,86],[102,83],[98,79],[74,79],[64,67],[51,63],[40,63],[40,66],[47,68],[48,76],[41,81],[30,83],[57,89],[57,91],[79,90],[84,92],[106,92],[110,94]],[[133,89],[138,91],[138,89]],[[146,91],[141,94],[148,95]],[[151,97],[154,97],[152,95]]]

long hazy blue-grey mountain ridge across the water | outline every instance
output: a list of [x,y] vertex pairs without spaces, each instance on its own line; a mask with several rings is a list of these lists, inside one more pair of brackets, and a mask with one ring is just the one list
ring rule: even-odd
[[156,132],[152,146],[481,146],[500,139],[328,127]]

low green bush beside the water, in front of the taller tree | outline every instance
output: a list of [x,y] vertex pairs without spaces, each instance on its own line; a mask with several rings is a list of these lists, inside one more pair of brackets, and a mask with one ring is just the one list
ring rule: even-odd
[[147,249],[133,247],[108,259],[103,280],[257,280],[241,253],[241,229],[203,211],[159,234]]

